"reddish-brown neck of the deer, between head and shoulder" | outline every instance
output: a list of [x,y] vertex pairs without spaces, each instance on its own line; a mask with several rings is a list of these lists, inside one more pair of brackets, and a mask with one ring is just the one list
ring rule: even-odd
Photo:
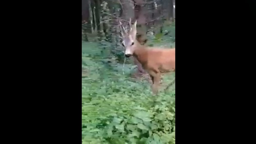
[[134,50],[134,57],[142,65],[147,62],[147,48],[144,45],[140,45],[139,42],[136,42],[136,48]]

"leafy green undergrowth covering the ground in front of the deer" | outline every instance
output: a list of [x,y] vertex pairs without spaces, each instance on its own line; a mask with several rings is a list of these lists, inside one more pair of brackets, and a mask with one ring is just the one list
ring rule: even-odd
[[148,81],[131,77],[133,64],[100,53],[82,42],[82,144],[175,144],[175,85],[154,96]]

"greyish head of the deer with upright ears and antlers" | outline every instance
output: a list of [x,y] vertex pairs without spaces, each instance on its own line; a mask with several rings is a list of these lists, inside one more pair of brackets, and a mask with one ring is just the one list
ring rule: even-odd
[[131,25],[131,19],[130,19],[130,22],[129,22],[130,31],[127,31],[127,29],[123,27],[120,21],[119,23],[120,23],[120,29],[121,29],[121,35],[122,35],[122,45],[125,47],[125,56],[130,57],[134,54],[134,50],[136,48],[136,45],[138,44],[136,41],[137,20],[133,25]]

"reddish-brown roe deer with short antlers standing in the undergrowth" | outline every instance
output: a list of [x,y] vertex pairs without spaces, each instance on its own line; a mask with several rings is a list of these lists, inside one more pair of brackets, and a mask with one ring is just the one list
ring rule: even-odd
[[[130,31],[120,23],[122,45],[125,47],[125,57],[134,56],[141,63],[144,70],[148,72],[152,79],[151,89],[154,95],[158,94],[161,73],[173,71],[175,73],[175,48],[158,48],[140,45],[136,40],[137,20],[131,25]],[[175,82],[174,80],[165,88],[165,90]]]

